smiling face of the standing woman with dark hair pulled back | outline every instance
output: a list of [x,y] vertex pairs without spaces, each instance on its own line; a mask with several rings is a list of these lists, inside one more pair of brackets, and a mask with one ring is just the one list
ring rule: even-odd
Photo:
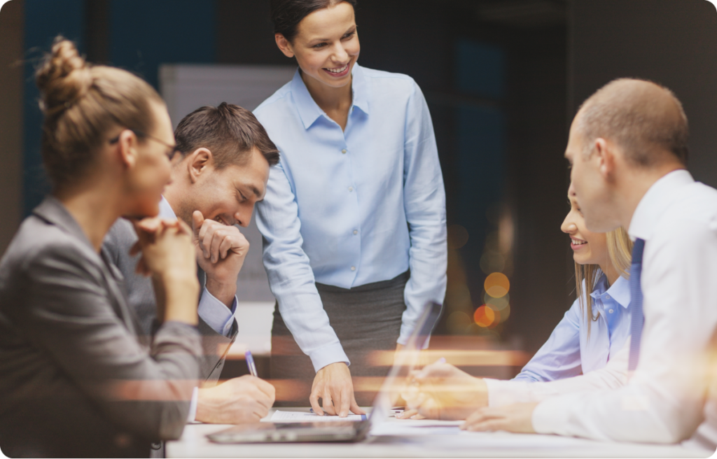
[[[277,43],[282,39],[278,34]],[[293,42],[284,43],[282,52],[296,57],[306,77],[330,87],[346,86],[361,52],[353,6],[341,1],[314,11],[299,23]]]

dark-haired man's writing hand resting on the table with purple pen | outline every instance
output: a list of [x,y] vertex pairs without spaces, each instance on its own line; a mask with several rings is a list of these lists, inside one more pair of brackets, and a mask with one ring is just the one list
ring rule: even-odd
[[211,424],[259,422],[274,400],[275,389],[268,382],[250,375],[237,377],[199,389],[195,419]]

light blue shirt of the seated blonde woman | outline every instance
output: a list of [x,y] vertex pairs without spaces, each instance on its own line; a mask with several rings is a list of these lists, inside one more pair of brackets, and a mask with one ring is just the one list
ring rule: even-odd
[[590,336],[576,299],[516,380],[545,382],[592,372],[604,367],[622,349],[630,336],[630,281],[619,277],[608,288],[607,277],[602,274],[590,296],[593,314],[599,314],[590,324]]

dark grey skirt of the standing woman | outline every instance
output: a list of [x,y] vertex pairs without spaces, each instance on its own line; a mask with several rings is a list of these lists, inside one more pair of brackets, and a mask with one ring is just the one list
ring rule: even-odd
[[[374,282],[353,289],[316,284],[331,327],[351,361],[349,369],[354,378],[354,395],[361,406],[371,405],[376,391],[356,390],[365,385],[357,387],[355,378],[381,378],[388,374],[390,367],[371,364],[369,357],[374,351],[396,349],[402,315],[406,310],[404,289],[409,277],[407,271],[389,281]],[[286,390],[285,385],[277,385],[276,405],[308,406],[316,374],[311,359],[301,352],[286,327],[278,303],[274,309],[271,345],[272,380],[292,380],[290,390]]]

